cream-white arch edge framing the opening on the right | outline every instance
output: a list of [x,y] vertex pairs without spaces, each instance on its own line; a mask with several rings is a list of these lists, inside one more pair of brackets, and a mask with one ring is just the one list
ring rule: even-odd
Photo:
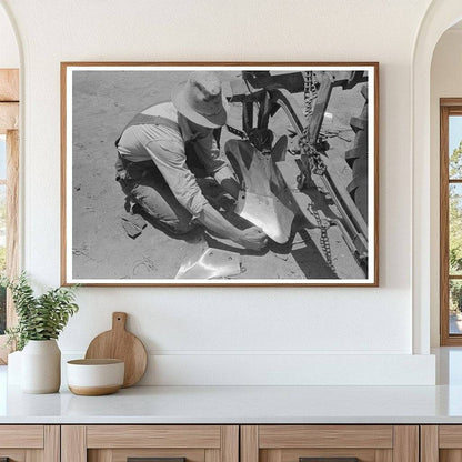
[[[438,346],[439,330],[439,149],[435,144],[431,66],[443,33],[462,19],[459,0],[436,0],[419,30],[412,61],[413,227],[412,291],[413,352],[428,354]],[[436,125],[436,128],[435,128]]]

